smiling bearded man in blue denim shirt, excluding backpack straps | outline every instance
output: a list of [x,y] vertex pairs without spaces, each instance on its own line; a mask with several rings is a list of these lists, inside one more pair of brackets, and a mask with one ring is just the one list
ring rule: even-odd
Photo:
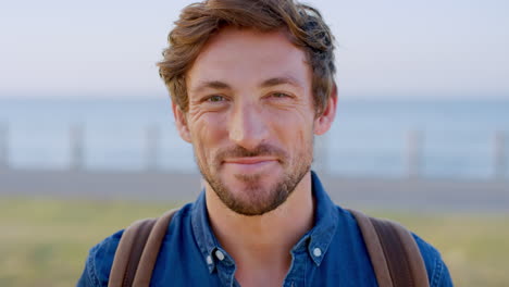
[[[151,286],[376,286],[355,217],[310,171],[337,102],[319,12],[209,0],[175,24],[160,74],[204,191],[173,216]],[[78,286],[108,285],[122,234],[90,250]],[[450,286],[439,253],[414,238],[430,285]]]

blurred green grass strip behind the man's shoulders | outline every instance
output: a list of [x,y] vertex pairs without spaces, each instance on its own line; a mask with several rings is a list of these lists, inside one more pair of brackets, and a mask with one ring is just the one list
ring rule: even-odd
[[[178,204],[0,199],[0,286],[74,286],[88,249]],[[437,247],[457,286],[507,286],[509,214],[372,212]]]

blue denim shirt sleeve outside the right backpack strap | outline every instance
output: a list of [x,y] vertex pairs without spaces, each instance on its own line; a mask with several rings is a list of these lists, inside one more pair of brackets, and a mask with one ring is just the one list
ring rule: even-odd
[[421,239],[419,236],[413,235],[419,249],[421,250],[422,259],[426,265],[427,277],[430,279],[430,287],[449,287],[452,285],[452,279],[449,270],[442,260],[442,255],[433,246]]

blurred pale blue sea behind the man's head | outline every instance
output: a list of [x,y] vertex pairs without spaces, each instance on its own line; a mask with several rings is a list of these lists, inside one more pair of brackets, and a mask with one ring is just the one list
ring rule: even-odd
[[[198,172],[169,98],[0,98],[10,169],[70,169],[76,146],[84,170]],[[315,155],[348,177],[508,178],[509,98],[339,99]]]

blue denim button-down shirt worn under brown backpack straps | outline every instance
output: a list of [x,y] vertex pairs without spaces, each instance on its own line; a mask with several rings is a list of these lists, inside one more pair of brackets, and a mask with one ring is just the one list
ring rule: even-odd
[[[316,203],[314,227],[291,249],[283,286],[377,286],[364,241],[352,215],[335,205],[312,173]],[[235,230],[232,230],[235,232]],[[123,230],[90,249],[77,286],[108,286]],[[438,251],[414,235],[426,265],[430,286],[452,286]],[[235,261],[210,227],[204,192],[173,217],[163,240],[150,286],[239,286]]]

